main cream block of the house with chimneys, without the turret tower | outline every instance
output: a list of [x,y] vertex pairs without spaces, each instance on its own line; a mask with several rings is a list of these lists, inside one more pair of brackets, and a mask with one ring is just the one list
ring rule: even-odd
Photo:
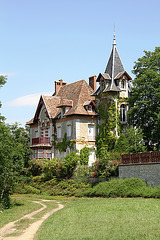
[[[89,164],[95,161],[95,90],[95,76],[89,78],[89,85],[85,80],[66,84],[60,79],[55,81],[53,96],[41,96],[34,118],[27,123],[33,158],[61,158],[71,148],[80,151],[88,146]],[[61,144],[66,145],[63,152]]]

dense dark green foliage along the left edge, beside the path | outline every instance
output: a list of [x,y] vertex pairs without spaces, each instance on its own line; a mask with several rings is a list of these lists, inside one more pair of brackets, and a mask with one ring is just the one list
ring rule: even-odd
[[24,173],[30,155],[28,132],[0,122],[0,204],[9,207],[14,182]]

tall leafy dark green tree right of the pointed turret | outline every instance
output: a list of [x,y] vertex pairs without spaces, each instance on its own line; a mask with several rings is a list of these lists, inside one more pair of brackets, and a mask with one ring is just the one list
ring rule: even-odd
[[143,132],[148,150],[160,149],[160,47],[144,51],[133,67],[129,123]]

